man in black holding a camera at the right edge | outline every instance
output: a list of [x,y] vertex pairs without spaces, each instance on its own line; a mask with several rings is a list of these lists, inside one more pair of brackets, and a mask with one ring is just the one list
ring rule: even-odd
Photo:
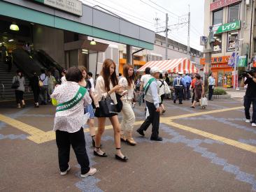
[[246,71],[245,76],[247,79],[244,84],[248,85],[246,95],[244,96],[246,122],[250,123],[250,105],[253,103],[253,118],[251,123],[253,127],[256,127],[256,68],[253,67],[250,71]]

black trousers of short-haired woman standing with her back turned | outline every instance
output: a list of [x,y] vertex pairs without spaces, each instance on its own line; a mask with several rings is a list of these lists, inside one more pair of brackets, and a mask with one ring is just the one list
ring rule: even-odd
[[76,159],[81,167],[81,174],[85,174],[90,170],[90,162],[85,149],[85,134],[83,128],[75,133],[68,133],[66,131],[56,131],[56,143],[58,147],[59,156],[59,170],[64,172],[69,168],[69,153],[70,145],[76,154]]

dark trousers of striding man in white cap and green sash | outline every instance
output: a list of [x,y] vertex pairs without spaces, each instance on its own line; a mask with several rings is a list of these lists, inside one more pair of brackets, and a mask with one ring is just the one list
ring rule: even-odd
[[148,116],[147,119],[145,119],[145,121],[143,122],[143,124],[141,125],[139,130],[147,131],[150,124],[152,124],[151,138],[158,138],[160,114],[159,114],[159,112],[155,111],[157,109],[155,108],[154,103],[150,103],[148,101],[145,101],[145,104],[148,107],[148,112],[149,112],[150,115]]

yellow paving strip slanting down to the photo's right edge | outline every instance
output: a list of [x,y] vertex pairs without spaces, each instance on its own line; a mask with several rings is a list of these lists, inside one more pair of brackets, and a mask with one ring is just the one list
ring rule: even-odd
[[248,145],[248,144],[245,144],[245,143],[242,143],[242,142],[238,142],[236,140],[231,140],[229,138],[224,138],[222,136],[214,135],[212,133],[208,133],[206,131],[201,131],[201,130],[198,130],[196,128],[192,128],[192,127],[189,127],[189,126],[183,126],[181,124],[176,124],[173,121],[168,122],[168,124],[170,126],[182,129],[184,131],[189,131],[190,133],[195,133],[197,135],[201,135],[201,136],[203,136],[205,138],[210,138],[212,140],[218,140],[220,142],[224,142],[227,145],[232,145],[233,147],[237,147],[239,149],[244,149],[244,150],[246,150],[248,152],[256,153],[256,147],[253,146],[253,145]]

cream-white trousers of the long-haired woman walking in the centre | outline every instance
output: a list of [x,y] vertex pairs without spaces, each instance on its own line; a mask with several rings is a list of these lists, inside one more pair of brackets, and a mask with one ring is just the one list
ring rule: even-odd
[[121,133],[131,132],[134,128],[135,115],[131,108],[131,101],[122,101]]

